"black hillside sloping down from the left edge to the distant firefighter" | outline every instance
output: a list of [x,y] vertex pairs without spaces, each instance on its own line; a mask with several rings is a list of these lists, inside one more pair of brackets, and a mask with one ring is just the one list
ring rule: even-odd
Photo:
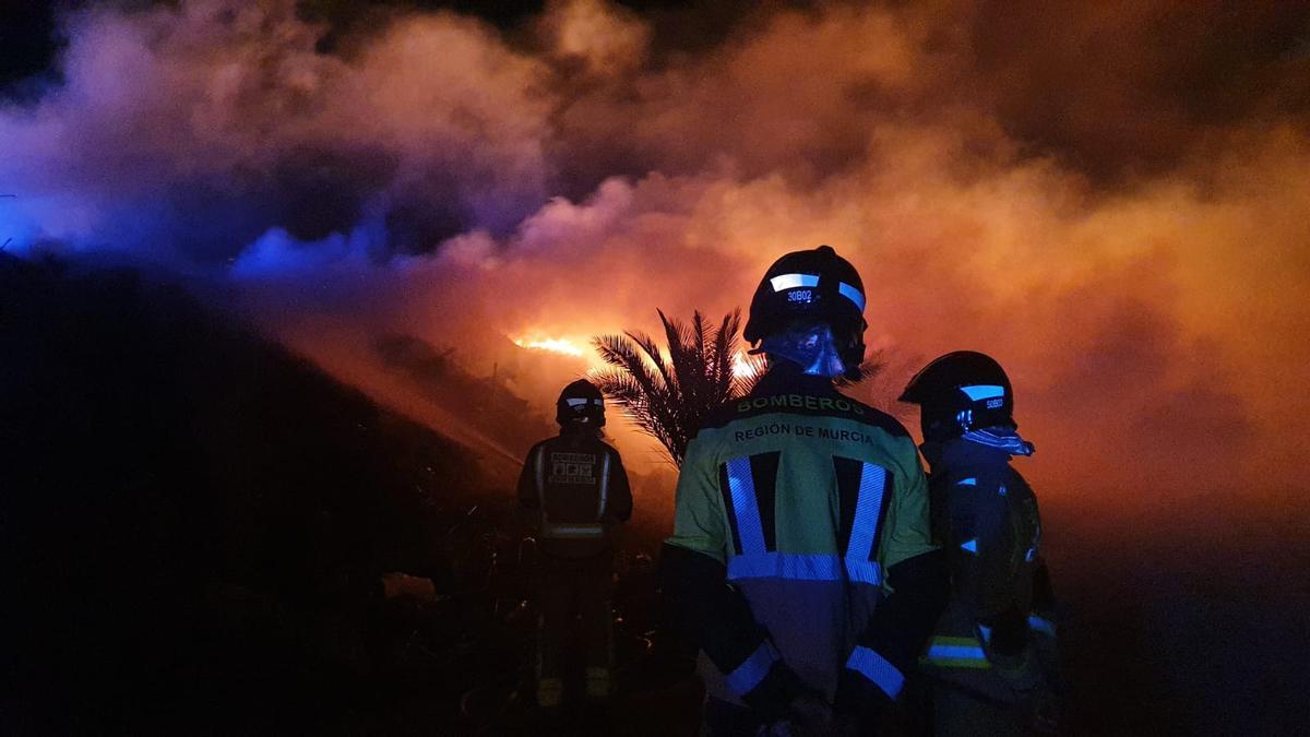
[[[0,732],[554,728],[517,696],[532,547],[476,451],[134,270],[0,254]],[[635,682],[654,580],[622,565]],[[669,733],[669,698],[622,719]]]

